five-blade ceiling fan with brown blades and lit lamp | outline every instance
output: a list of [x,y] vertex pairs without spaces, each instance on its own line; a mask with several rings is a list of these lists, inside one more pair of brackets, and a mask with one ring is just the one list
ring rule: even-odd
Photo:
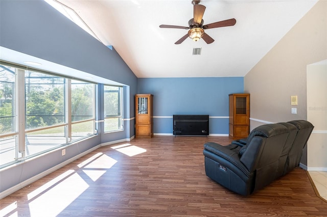
[[189,26],[180,25],[159,25],[160,28],[171,28],[171,29],[184,29],[189,30],[188,34],[181,37],[175,44],[182,43],[186,38],[190,37],[193,41],[198,41],[202,38],[207,44],[213,43],[215,40],[204,32],[207,29],[213,29],[223,26],[235,25],[236,19],[226,19],[223,21],[218,21],[210,24],[203,25],[203,14],[205,10],[204,5],[199,5],[200,0],[193,0],[193,18],[189,20]]

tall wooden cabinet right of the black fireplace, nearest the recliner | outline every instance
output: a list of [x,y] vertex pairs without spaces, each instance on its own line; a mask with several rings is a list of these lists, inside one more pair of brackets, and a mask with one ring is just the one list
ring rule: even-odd
[[250,94],[229,94],[229,137],[246,138],[250,132]]

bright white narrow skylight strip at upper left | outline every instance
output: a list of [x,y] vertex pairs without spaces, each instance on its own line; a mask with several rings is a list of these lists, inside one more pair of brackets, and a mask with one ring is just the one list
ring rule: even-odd
[[[75,24],[80,26],[88,34],[100,41],[94,32],[87,26],[87,24],[82,20],[82,18],[71,8],[65,6],[64,4],[56,0],[44,0],[46,3],[54,7],[57,11],[65,15],[68,19],[72,20]],[[100,41],[101,42],[101,41]]]

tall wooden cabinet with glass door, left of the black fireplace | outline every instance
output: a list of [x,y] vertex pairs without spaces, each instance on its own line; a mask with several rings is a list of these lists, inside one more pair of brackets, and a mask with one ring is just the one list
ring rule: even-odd
[[135,95],[135,137],[153,137],[153,95]]

